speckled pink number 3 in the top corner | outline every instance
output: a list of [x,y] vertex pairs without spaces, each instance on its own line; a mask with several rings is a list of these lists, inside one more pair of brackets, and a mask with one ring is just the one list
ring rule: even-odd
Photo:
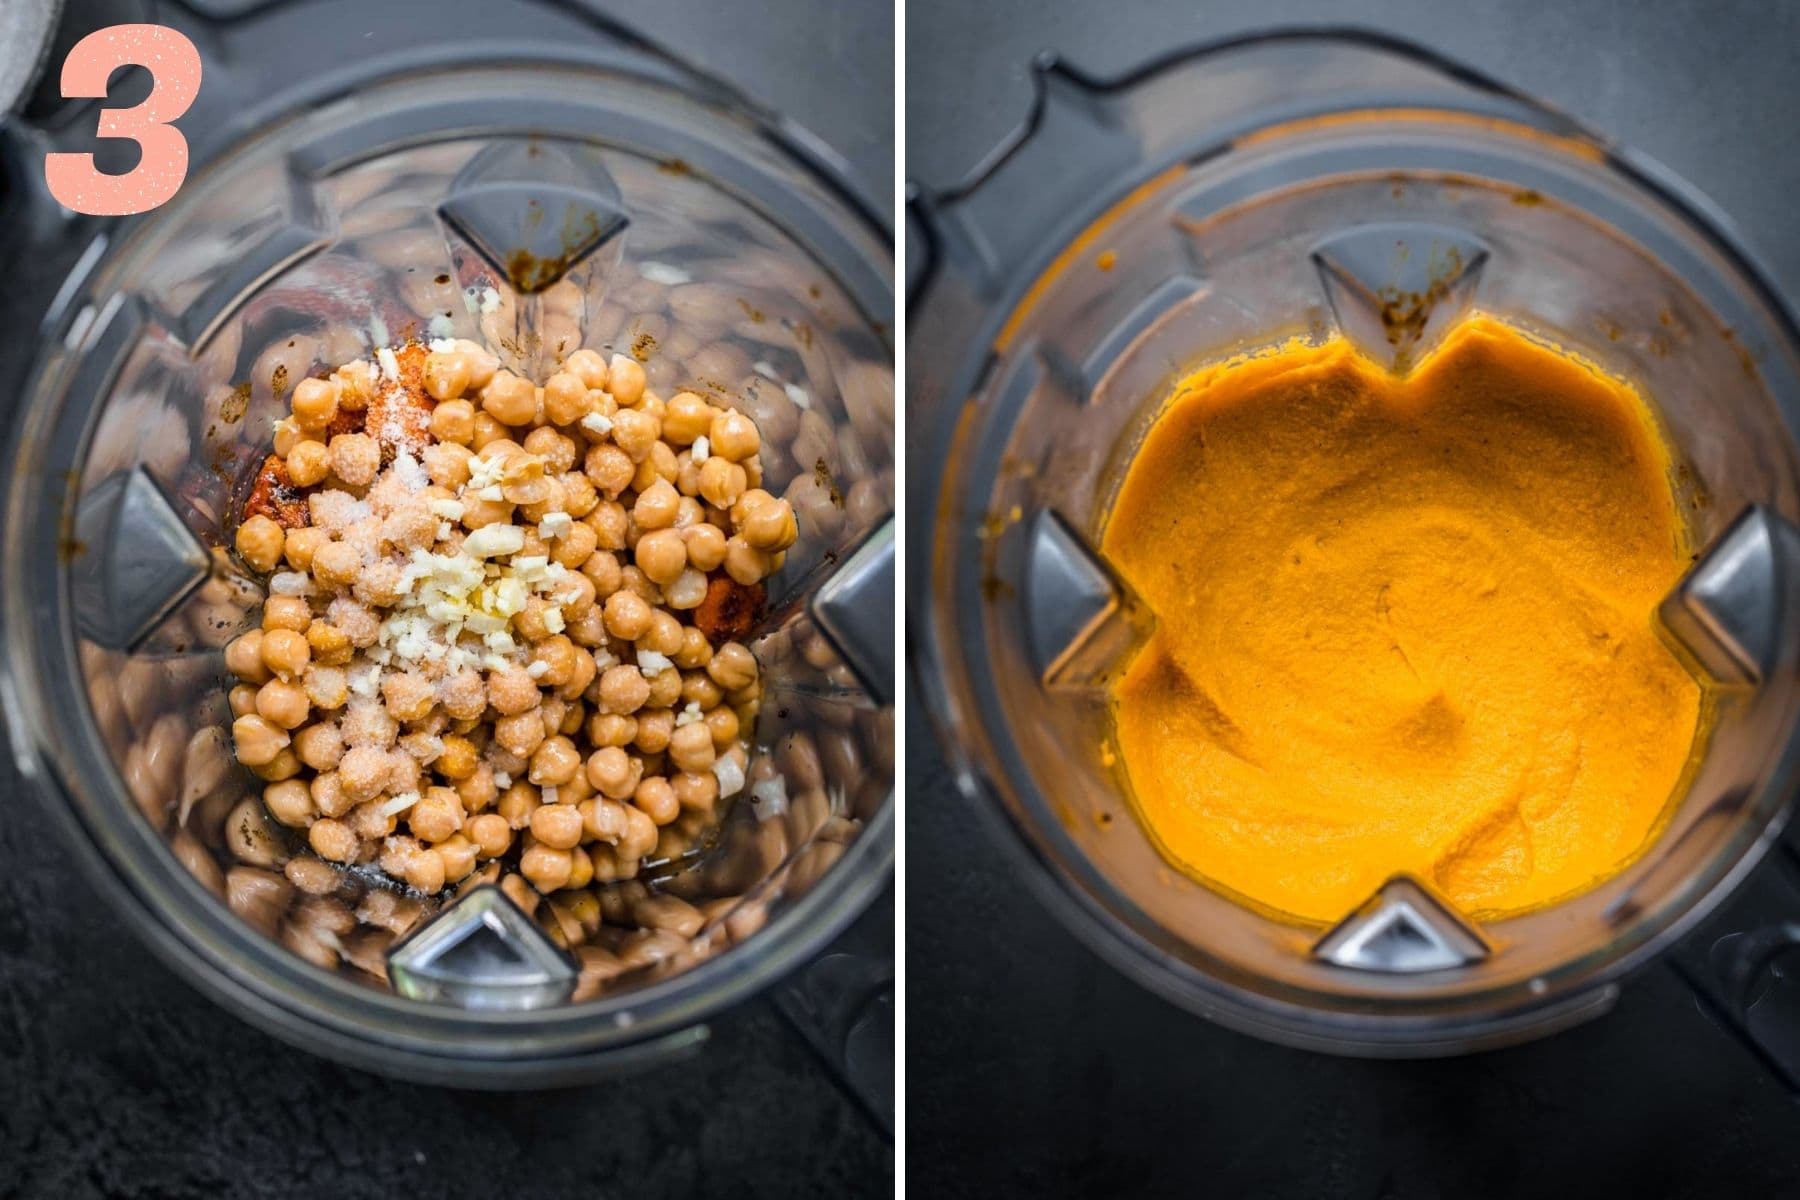
[[106,95],[106,81],[121,67],[144,67],[149,95],[137,108],[103,108],[99,137],[128,137],[142,149],[124,175],[103,175],[94,155],[45,155],[43,180],[59,203],[88,216],[149,212],[169,200],[187,178],[187,139],[169,126],[200,94],[200,50],[164,25],[112,25],[68,52],[63,61],[65,97]]

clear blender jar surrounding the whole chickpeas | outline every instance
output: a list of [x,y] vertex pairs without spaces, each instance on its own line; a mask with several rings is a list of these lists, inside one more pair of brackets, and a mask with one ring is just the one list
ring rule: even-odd
[[[473,1087],[661,1061],[887,882],[891,246],[803,135],[617,29],[317,61],[333,47],[308,31],[344,18],[193,25],[209,54],[292,45],[310,83],[225,119],[238,140],[140,219],[32,214],[92,239],[7,452],[9,732],[130,923],[263,1027]],[[243,101],[230,56],[209,61]],[[716,824],[666,826],[635,880],[520,907],[479,876],[418,896],[347,871],[301,896],[283,865],[304,844],[230,754],[221,648],[263,601],[232,529],[284,392],[409,336],[531,378],[580,345],[634,354],[652,389],[751,414],[794,502],[801,540],[745,639],[767,680],[747,784]],[[891,964],[817,966],[785,1007],[886,1110],[868,1045]]]

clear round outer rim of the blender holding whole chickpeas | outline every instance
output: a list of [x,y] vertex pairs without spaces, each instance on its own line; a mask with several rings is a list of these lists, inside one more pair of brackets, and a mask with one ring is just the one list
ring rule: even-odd
[[[205,176],[223,171],[229,158],[254,151],[257,146],[266,148],[268,139],[275,139],[288,126],[311,117],[313,106],[326,103],[326,99],[342,97],[351,88],[403,86],[419,81],[427,72],[441,74],[459,67],[493,74],[551,65],[571,70],[589,68],[589,74],[594,76],[603,74],[592,70],[596,65],[592,58],[580,52],[571,54],[569,47],[509,45],[508,50],[518,58],[508,61],[495,61],[486,54],[490,49],[482,47],[482,54],[473,54],[468,49],[445,50],[436,47],[428,52],[387,56],[376,65],[382,70],[374,77],[371,77],[371,67],[362,65],[353,72],[340,70],[283,92],[259,110],[279,108],[286,110],[288,115],[230,139],[230,146],[223,153],[214,148],[216,153],[196,169],[193,182],[202,184],[202,187],[189,193],[189,198],[203,191]],[[538,50],[547,50],[547,54],[538,54]],[[643,72],[621,72],[621,65],[614,61],[607,61],[605,67],[614,74],[625,74],[628,86],[659,86],[689,104],[698,104],[709,121],[722,122],[720,131],[736,130],[738,137],[767,139],[778,155],[799,167],[805,178],[821,184],[824,193],[842,205],[850,221],[862,227],[864,234],[878,245],[891,245],[889,230],[860,200],[842,164],[832,155],[796,151],[792,142],[787,137],[776,137],[767,122],[758,119],[758,113],[749,113],[751,121],[745,121],[743,112],[702,103],[702,97],[671,86],[668,79]],[[304,110],[293,108],[295,94],[310,97]],[[461,135],[479,135],[479,119],[472,121]],[[418,144],[418,140],[410,139],[405,144]],[[743,151],[734,149],[734,153]],[[697,175],[738,203],[745,203],[742,193],[725,182],[704,173]],[[43,385],[52,380],[65,389],[68,387],[81,356],[79,353],[65,353],[63,335],[79,308],[77,299],[90,297],[90,284],[103,277],[108,268],[130,257],[142,245],[142,239],[155,232],[158,218],[167,218],[171,210],[178,210],[180,203],[182,198],[176,198],[160,214],[153,212],[126,221],[122,237],[117,236],[119,221],[95,221],[97,234],[58,290],[56,302],[45,317],[43,344],[25,378],[22,398],[41,392]],[[781,225],[781,221],[776,223]],[[844,273],[837,270],[841,264],[828,264],[817,257],[814,246],[808,246],[808,254],[846,286],[846,295],[857,300],[860,309],[860,299],[844,281]],[[878,268],[891,279],[886,259]],[[112,306],[112,313],[104,302],[97,304],[97,309],[103,317],[117,317],[117,306]],[[862,315],[871,324],[878,324],[875,315],[868,311]],[[103,324],[104,320],[92,322],[83,338],[101,329]],[[90,349],[90,345],[85,344],[83,349]],[[38,428],[31,428],[32,425]],[[20,583],[22,540],[27,536],[25,522],[29,520],[25,509],[63,507],[59,497],[34,498],[20,486],[20,480],[31,479],[29,462],[23,457],[27,450],[45,435],[56,435],[54,430],[43,430],[41,425],[41,421],[16,421],[5,444],[14,488],[5,502],[5,525],[0,529],[0,547],[4,547],[9,578],[5,604],[0,610],[0,639],[9,646],[5,660],[0,662],[0,702],[4,702],[5,729],[14,757],[22,775],[36,790],[50,792],[54,788],[56,797],[50,806],[58,810],[58,820],[77,835],[72,840],[88,867],[88,878],[101,882],[110,900],[130,900],[124,905],[126,914],[151,948],[214,999],[229,1000],[234,1011],[256,1024],[286,1036],[324,1033],[331,1042],[326,1045],[308,1042],[308,1045],[335,1054],[342,1043],[340,1056],[346,1058],[387,1056],[392,1060],[387,1065],[398,1067],[401,1072],[407,1070],[410,1060],[414,1076],[428,1076],[434,1065],[454,1070],[461,1061],[475,1067],[493,1063],[508,1067],[513,1074],[522,1072],[520,1078],[540,1079],[542,1074],[533,1074],[531,1060],[520,1058],[520,1052],[540,1056],[538,1065],[545,1070],[580,1072],[578,1056],[581,1052],[610,1054],[621,1047],[643,1045],[671,1031],[688,1029],[765,990],[842,932],[891,876],[895,802],[889,792],[887,801],[846,847],[833,869],[805,896],[787,903],[756,937],[639,991],[529,1013],[484,1013],[405,1000],[301,961],[254,934],[234,914],[227,912],[211,892],[178,867],[160,837],[148,826],[139,828],[142,822],[137,820],[135,813],[124,811],[133,806],[124,799],[115,766],[101,766],[97,772],[101,790],[106,792],[97,802],[97,810],[119,810],[119,815],[126,819],[124,828],[106,829],[103,826],[115,822],[108,820],[104,811],[85,811],[86,806],[76,802],[79,792],[70,786],[67,777],[81,774],[83,765],[61,761],[68,754],[68,748],[61,745],[68,739],[68,732],[54,729],[45,709],[27,707],[23,702],[27,693],[34,700],[45,700],[59,687],[67,689],[63,700],[76,702],[77,725],[83,725],[83,734],[92,730],[92,709],[85,694],[74,687],[79,664],[74,658],[70,610],[67,603],[58,606],[58,639],[34,640],[32,622],[41,624],[47,613],[31,610],[25,601],[27,588]],[[29,434],[38,434],[38,437],[29,439]],[[76,437],[85,443],[86,432],[79,432]],[[41,471],[38,475],[40,484],[50,484],[50,480],[41,479]],[[72,488],[74,484],[72,480],[54,484],[54,488],[61,486]],[[50,488],[40,486],[38,491],[45,493]],[[61,567],[56,570],[54,588],[67,594],[67,570]],[[43,597],[38,601],[41,608]],[[50,797],[45,795],[45,801],[49,802]],[[175,914],[182,919],[173,921]],[[371,1027],[371,1022],[376,1020],[382,1022],[380,1027]],[[504,1085],[504,1081],[497,1081],[497,1085]]]

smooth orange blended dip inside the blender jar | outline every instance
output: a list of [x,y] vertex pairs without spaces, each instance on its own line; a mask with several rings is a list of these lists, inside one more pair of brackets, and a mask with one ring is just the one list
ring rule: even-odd
[[1624,867],[1701,723],[1652,628],[1670,466],[1631,387],[1485,317],[1408,378],[1343,340],[1186,378],[1102,542],[1157,615],[1112,700],[1163,853],[1307,921],[1397,873],[1494,916]]

